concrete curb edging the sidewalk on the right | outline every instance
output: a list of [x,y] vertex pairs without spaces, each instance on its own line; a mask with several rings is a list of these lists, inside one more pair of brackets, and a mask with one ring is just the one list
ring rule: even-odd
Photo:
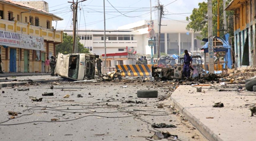
[[173,97],[171,97],[175,107],[189,120],[189,122],[195,126],[209,141],[223,141],[218,135],[213,133],[209,127],[205,126],[200,120],[195,118],[187,109],[185,109],[179,102],[177,102]]

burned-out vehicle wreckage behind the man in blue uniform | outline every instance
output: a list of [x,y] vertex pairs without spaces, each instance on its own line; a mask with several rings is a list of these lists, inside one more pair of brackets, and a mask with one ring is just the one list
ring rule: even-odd
[[[158,66],[152,66],[152,77],[155,80],[182,79],[184,56],[179,58],[161,57]],[[201,56],[191,55],[193,63],[191,66],[191,77],[200,77],[203,74]]]

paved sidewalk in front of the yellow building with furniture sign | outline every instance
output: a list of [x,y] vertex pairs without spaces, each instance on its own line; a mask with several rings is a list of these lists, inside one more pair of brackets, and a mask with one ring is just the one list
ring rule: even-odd
[[[5,74],[6,73],[2,75]],[[59,76],[50,76],[49,73],[9,73],[8,75],[5,75],[5,77],[0,78],[0,88],[25,85],[31,82],[47,83],[61,80],[63,80],[63,78]]]

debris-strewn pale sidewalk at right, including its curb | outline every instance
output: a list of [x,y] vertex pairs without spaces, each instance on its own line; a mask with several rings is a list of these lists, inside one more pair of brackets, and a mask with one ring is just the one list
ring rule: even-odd
[[[199,93],[194,87],[181,85],[171,99],[175,107],[210,141],[255,141],[256,117],[250,117],[249,107],[245,106],[248,104],[246,100],[256,103],[255,95],[219,92],[217,89],[203,91],[205,93]],[[217,102],[222,102],[224,107],[213,108]]]

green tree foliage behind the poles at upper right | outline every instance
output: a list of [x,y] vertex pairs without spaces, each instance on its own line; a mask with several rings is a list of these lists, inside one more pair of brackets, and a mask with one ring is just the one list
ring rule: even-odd
[[[231,0],[226,0],[226,5],[230,3]],[[224,26],[223,26],[223,0],[219,0],[220,2],[220,36],[223,37],[224,35]],[[194,8],[192,14],[189,17],[186,17],[186,20],[189,21],[187,25],[187,30],[192,30],[194,32],[200,32],[203,38],[208,38],[208,6],[207,2],[201,2],[198,4],[199,8]],[[218,2],[217,0],[213,0],[213,36],[217,36],[217,7]],[[231,36],[234,35],[234,25],[230,26],[230,21],[234,15],[233,11],[226,11],[226,18],[228,19],[227,25],[228,32]],[[201,39],[200,37],[197,37]]]

